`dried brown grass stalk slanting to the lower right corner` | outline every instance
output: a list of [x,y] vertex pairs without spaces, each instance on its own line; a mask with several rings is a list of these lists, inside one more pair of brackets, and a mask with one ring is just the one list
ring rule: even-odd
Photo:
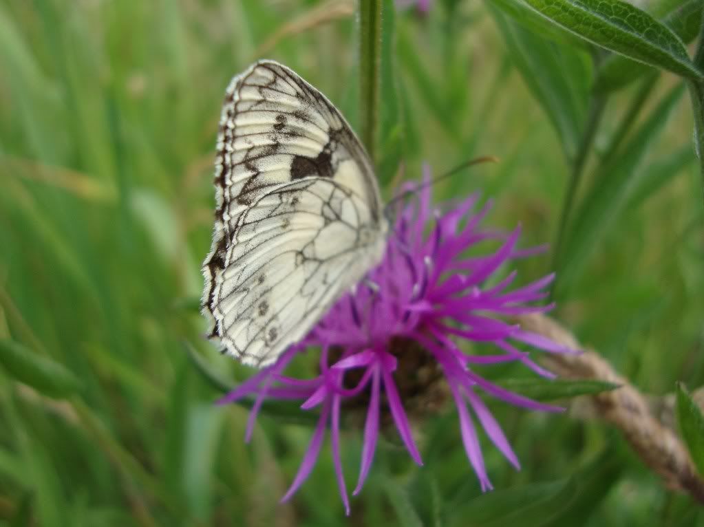
[[[584,349],[577,339],[543,315],[518,317],[523,329],[551,338],[574,349]],[[599,417],[613,424],[643,462],[658,473],[667,488],[689,493],[704,503],[704,480],[698,476],[689,452],[672,428],[651,412],[648,398],[593,350],[580,355],[546,355],[545,362],[565,379],[598,379],[620,386],[613,391],[578,398],[574,414],[582,419]],[[672,421],[672,420],[671,420]]]

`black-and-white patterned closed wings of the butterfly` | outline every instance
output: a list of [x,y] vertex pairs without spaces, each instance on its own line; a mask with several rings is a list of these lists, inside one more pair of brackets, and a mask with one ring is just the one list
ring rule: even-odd
[[379,262],[386,243],[369,157],[339,110],[259,61],[225,93],[203,313],[227,353],[264,367]]

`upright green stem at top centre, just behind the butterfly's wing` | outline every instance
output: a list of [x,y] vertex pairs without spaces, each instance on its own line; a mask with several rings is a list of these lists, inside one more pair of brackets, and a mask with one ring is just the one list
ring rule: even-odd
[[359,72],[362,142],[377,162],[382,68],[382,0],[359,0]]

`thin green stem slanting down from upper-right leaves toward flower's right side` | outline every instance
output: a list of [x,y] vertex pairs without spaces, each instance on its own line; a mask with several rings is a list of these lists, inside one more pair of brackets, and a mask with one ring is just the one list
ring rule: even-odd
[[[559,270],[560,251],[562,250],[562,244],[565,241],[567,222],[570,219],[570,212],[572,212],[572,207],[574,206],[574,197],[577,195],[577,189],[579,189],[579,182],[582,180],[582,174],[584,173],[586,159],[589,156],[589,151],[591,150],[591,146],[594,142],[596,130],[598,129],[599,122],[601,122],[601,116],[603,115],[605,106],[605,95],[597,95],[591,99],[589,119],[587,120],[586,127],[584,128],[584,135],[582,135],[582,141],[579,142],[577,154],[574,156],[574,162],[572,163],[572,172],[570,173],[570,182],[567,184],[565,198],[563,198],[562,200],[562,210],[560,211],[560,223],[558,227],[558,234],[555,238],[555,247],[553,248],[552,269],[554,271]],[[559,276],[560,275],[558,273],[558,277]],[[555,291],[556,282],[557,280],[553,282],[552,291]]]

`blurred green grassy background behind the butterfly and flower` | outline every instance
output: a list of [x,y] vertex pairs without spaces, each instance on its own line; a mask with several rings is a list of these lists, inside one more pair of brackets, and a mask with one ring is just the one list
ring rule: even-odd
[[[496,198],[493,224],[521,223],[524,246],[553,243],[579,138],[601,104],[558,260],[554,316],[643,391],[701,386],[702,191],[677,78],[646,71],[595,95],[605,56],[516,23],[508,4],[436,0],[427,14],[389,11],[379,177],[389,182],[399,162],[415,178],[425,160],[441,172],[496,155],[501,163],[444,182],[436,195],[480,189]],[[356,126],[355,8],[0,4],[0,337],[38,357],[49,379],[40,381],[58,383],[30,388],[0,368],[0,524],[414,525],[404,500],[433,516],[438,500],[452,509],[480,494],[450,412],[424,426],[436,455],[420,471],[393,445],[382,448],[350,519],[325,449],[296,497],[277,505],[310,428],[262,417],[245,445],[246,409],[213,406],[220,392],[184,352],[192,343],[232,382],[248,374],[205,341],[197,310],[227,82],[256,58],[275,58]],[[551,257],[519,268],[522,281],[536,279]],[[569,500],[555,491],[513,525],[704,524],[608,426],[492,409],[522,462],[514,471],[482,438],[498,490],[572,482]],[[348,484],[360,435],[344,437]],[[473,517],[448,524],[484,524]]]

